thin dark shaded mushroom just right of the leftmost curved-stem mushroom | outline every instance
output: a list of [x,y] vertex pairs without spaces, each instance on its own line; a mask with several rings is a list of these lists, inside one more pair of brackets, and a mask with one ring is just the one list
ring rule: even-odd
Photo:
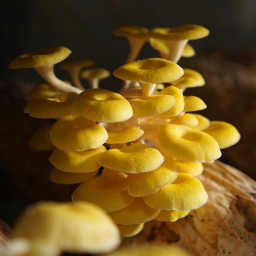
[[73,83],[77,88],[80,88],[82,91],[84,90],[80,80],[79,80],[79,74],[82,68],[87,68],[93,65],[93,61],[90,59],[82,59],[82,60],[71,60],[64,62],[60,65],[61,69],[66,70]]

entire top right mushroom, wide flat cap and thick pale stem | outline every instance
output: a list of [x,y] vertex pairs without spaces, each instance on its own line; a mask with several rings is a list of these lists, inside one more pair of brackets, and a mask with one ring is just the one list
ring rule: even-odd
[[189,24],[174,28],[154,28],[148,34],[152,38],[164,40],[169,49],[167,59],[178,62],[188,40],[205,37],[209,31],[202,26]]

